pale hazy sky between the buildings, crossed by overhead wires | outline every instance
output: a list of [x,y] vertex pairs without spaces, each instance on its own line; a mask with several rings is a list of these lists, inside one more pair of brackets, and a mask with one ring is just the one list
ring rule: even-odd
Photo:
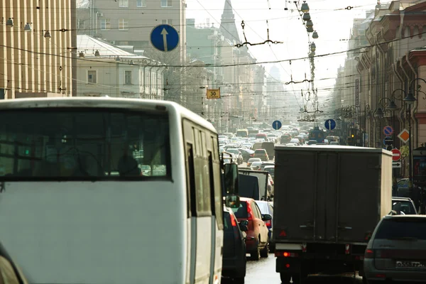
[[[197,23],[206,23],[209,18],[210,25],[219,26],[225,0],[187,0],[187,18],[195,18]],[[382,1],[382,4],[385,1]],[[281,41],[283,44],[258,45],[249,47],[251,54],[258,62],[273,60],[289,60],[304,58],[308,52],[308,37],[302,20],[296,10],[294,1],[283,0],[231,0],[234,8],[237,29],[242,37],[241,20],[246,23],[245,32],[247,40],[251,43],[263,42],[267,38],[266,29],[269,27],[270,39]],[[299,7],[303,3],[299,2]],[[310,6],[310,16],[314,23],[314,30],[319,38],[313,40],[317,46],[316,55],[335,53],[347,50],[347,39],[351,34],[354,18],[365,18],[367,10],[374,9],[377,1],[372,0],[307,0]],[[287,6],[288,11],[285,11]],[[350,10],[345,9],[351,6]],[[271,8],[271,9],[269,9]],[[268,25],[266,23],[268,20]],[[312,33],[311,33],[312,35]],[[312,38],[310,39],[312,40]],[[329,94],[329,87],[333,87],[334,80],[319,80],[322,78],[336,77],[337,68],[344,64],[346,53],[331,55],[315,59],[315,86],[318,88],[319,97],[325,99]],[[270,70],[272,64],[267,64]],[[280,69],[281,80],[293,81],[310,79],[310,65],[308,60],[292,60],[280,62],[276,66]],[[309,87],[307,84],[293,84],[288,90],[295,90],[300,94],[300,89]]]

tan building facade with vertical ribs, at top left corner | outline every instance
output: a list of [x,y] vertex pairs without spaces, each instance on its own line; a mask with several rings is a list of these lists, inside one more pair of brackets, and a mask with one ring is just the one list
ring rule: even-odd
[[0,99],[75,95],[75,1],[1,0],[0,6]]

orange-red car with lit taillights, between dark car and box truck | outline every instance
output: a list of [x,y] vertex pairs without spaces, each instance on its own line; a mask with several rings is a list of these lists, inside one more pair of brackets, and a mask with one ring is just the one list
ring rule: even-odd
[[246,232],[246,248],[247,253],[253,260],[258,261],[261,257],[268,257],[269,238],[268,227],[265,221],[272,219],[270,214],[261,214],[256,202],[251,198],[241,197],[239,208],[232,208],[238,222],[247,220],[249,222],[248,231]]

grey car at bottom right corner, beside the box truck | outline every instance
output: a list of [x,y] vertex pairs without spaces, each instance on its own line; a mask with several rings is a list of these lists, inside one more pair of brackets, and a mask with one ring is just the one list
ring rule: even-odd
[[383,217],[368,241],[364,273],[367,283],[424,283],[426,216]]

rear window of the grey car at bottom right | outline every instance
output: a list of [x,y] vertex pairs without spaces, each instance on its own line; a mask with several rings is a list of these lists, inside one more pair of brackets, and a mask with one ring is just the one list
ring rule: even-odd
[[378,227],[375,239],[414,238],[426,240],[426,219],[385,219]]

